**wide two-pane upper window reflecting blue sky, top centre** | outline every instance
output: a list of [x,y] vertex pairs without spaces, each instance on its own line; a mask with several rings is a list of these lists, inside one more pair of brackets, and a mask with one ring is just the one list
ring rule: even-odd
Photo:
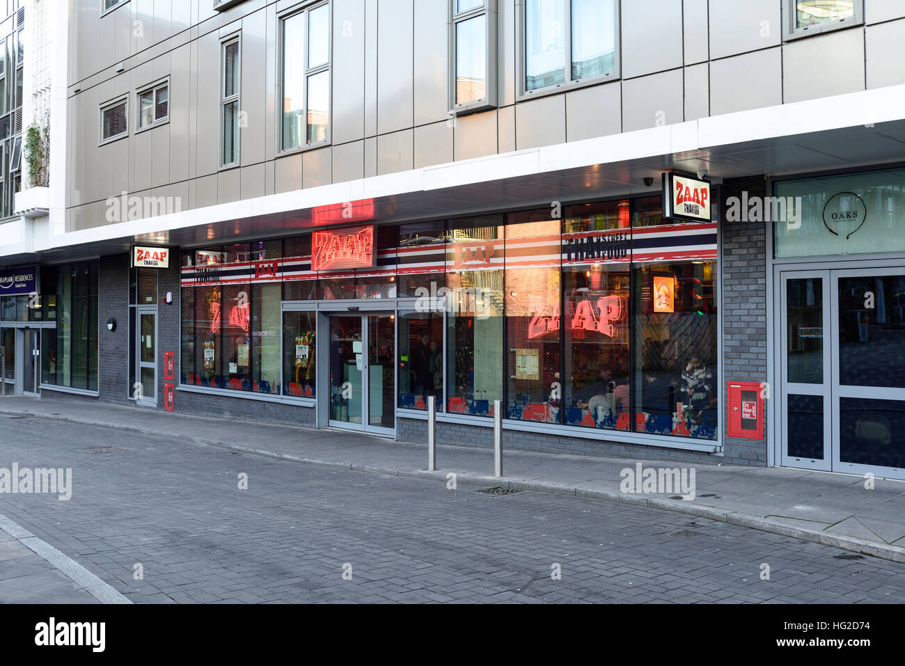
[[618,78],[616,0],[519,0],[521,94]]

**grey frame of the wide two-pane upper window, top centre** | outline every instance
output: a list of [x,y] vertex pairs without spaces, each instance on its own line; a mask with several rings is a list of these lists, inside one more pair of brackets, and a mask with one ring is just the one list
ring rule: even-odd
[[526,101],[534,100],[538,97],[547,95],[555,95],[559,92],[567,90],[576,90],[578,88],[586,88],[587,86],[599,85],[600,83],[608,83],[610,81],[620,81],[622,79],[622,0],[613,0],[613,26],[614,26],[614,46],[613,46],[613,73],[597,74],[584,79],[572,79],[572,0],[566,2],[566,25],[563,33],[566,37],[565,51],[567,60],[563,62],[565,68],[566,80],[556,85],[539,88],[538,90],[525,90],[525,77],[528,71],[528,58],[525,53],[525,47],[528,38],[525,35],[527,26],[527,8],[526,0],[515,0],[516,28],[516,100]]

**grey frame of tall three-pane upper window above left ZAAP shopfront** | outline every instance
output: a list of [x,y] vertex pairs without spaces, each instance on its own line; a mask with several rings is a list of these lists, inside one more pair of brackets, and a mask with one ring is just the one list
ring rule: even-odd
[[[327,20],[328,20],[328,35],[327,35],[327,62],[319,65],[318,67],[309,67],[308,66],[308,56],[309,56],[309,15],[315,9],[319,9],[320,7],[326,6],[328,8],[327,11]],[[291,19],[294,16],[298,16],[299,14],[305,14],[304,21],[304,33],[305,33],[305,44],[304,44],[304,66],[303,66],[303,74],[304,77],[304,86],[305,86],[305,104],[303,116],[305,118],[305,136],[308,136],[308,80],[314,76],[315,74],[322,73],[324,71],[328,72],[328,80],[329,80],[329,92],[328,92],[328,110],[327,110],[327,138],[323,141],[318,141],[316,143],[307,143],[303,142],[300,146],[293,147],[283,147],[283,100],[285,97],[283,96],[283,90],[285,87],[286,80],[286,66],[285,66],[285,24],[286,21]],[[285,155],[291,155],[293,153],[300,153],[307,150],[316,149],[319,147],[325,147],[332,145],[333,136],[332,136],[332,128],[333,128],[333,5],[330,3],[330,0],[307,0],[307,2],[300,3],[299,5],[295,5],[290,9],[287,9],[285,12],[281,12],[277,16],[277,104],[276,106],[276,155],[277,157],[282,157]]]

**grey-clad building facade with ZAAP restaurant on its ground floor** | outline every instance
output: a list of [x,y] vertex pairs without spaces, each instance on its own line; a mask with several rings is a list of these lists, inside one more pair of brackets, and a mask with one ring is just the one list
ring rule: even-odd
[[14,392],[401,441],[433,397],[473,446],[499,400],[513,448],[905,478],[900,3],[65,19]]

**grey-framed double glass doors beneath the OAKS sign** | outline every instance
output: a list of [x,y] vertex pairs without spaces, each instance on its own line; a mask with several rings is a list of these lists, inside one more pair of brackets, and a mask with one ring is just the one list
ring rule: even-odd
[[905,479],[905,268],[780,275],[782,464]]

